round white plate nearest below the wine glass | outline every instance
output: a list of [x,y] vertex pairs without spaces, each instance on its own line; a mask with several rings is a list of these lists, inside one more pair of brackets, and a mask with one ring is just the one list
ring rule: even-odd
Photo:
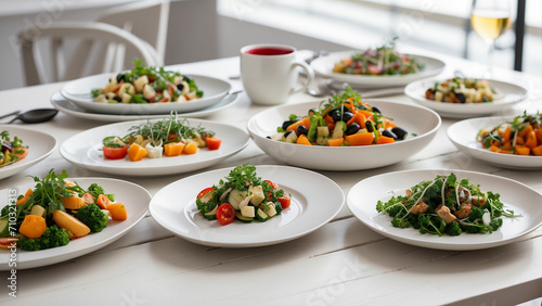
[[427,89],[434,88],[435,82],[442,82],[444,80],[446,79],[424,79],[413,81],[404,88],[404,94],[414,100],[416,103],[429,107],[439,113],[442,117],[448,118],[468,118],[489,115],[503,111],[507,106],[519,103],[527,98],[527,89],[521,86],[489,79],[491,86],[493,86],[499,92],[495,95],[498,100],[493,102],[463,104],[435,102],[433,100],[425,99],[425,92]]

